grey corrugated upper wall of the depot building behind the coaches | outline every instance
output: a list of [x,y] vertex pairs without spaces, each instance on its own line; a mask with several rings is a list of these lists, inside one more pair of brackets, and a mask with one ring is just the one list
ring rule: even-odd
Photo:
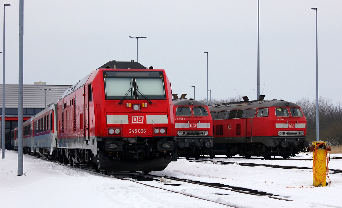
[[[45,90],[46,104],[56,102],[66,89],[72,85],[33,85],[24,84],[24,108],[45,108]],[[39,89],[40,88],[40,89]],[[0,108],[2,106],[2,87],[0,87]],[[5,108],[18,108],[18,85],[5,84]]]

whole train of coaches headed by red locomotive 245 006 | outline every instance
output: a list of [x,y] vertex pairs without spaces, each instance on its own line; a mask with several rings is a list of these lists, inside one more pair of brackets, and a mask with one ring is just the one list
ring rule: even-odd
[[164,70],[113,60],[26,121],[24,149],[96,171],[163,170],[177,159],[173,116]]

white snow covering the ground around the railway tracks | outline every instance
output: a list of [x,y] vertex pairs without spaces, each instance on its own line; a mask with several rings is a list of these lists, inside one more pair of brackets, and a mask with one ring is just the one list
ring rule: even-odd
[[[1,151],[0,151],[1,153]],[[299,156],[306,156],[300,154]],[[331,155],[342,156],[342,155]],[[299,158],[299,157],[298,157]],[[176,190],[239,208],[249,207],[341,207],[342,174],[329,174],[331,185],[312,186],[312,170],[280,169],[262,166],[240,166],[237,163],[259,163],[312,167],[312,161],[256,160],[246,158],[216,158],[234,162],[221,165],[179,159],[164,171],[154,175],[192,179],[208,183],[263,191],[285,200],[252,196],[179,181],[168,183],[149,181],[168,190]],[[208,159],[209,160],[209,159]],[[342,159],[331,159],[330,169],[342,169]],[[169,180],[168,180],[169,181]],[[4,205],[4,206],[2,206]],[[6,151],[0,159],[0,207],[227,207],[194,197],[184,196],[132,181],[99,176],[89,171],[45,161],[24,154],[24,176],[17,176],[17,152]]]

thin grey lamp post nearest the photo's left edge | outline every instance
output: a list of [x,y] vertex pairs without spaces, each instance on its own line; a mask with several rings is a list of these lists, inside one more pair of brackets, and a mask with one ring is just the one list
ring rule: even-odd
[[5,6],[3,4],[3,50],[2,50],[2,128],[1,128],[1,149],[2,159],[5,158]]

